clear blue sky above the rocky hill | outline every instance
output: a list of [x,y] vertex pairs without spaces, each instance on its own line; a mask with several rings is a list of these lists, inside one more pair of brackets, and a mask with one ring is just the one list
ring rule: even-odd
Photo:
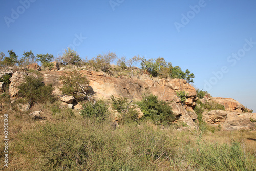
[[0,51],[163,57],[256,112],[256,1],[1,1]]

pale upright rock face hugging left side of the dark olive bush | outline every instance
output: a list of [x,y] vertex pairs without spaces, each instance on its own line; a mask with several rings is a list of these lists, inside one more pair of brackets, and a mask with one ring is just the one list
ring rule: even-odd
[[17,98],[17,94],[19,91],[18,86],[20,86],[21,83],[25,82],[25,76],[34,76],[37,78],[36,74],[32,73],[26,73],[25,71],[16,71],[13,73],[12,77],[10,78],[10,85],[9,85],[9,95],[10,100],[15,100]]

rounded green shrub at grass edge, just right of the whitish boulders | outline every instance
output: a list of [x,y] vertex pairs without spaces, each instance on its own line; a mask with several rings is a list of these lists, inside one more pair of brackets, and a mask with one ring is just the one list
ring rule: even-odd
[[80,112],[84,117],[95,117],[100,120],[106,119],[109,115],[108,105],[103,100],[98,100],[95,103],[88,101]]

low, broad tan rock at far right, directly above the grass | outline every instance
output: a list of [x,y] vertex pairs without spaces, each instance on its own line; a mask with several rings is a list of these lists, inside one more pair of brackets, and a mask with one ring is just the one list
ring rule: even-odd
[[223,110],[212,110],[203,113],[203,120],[208,124],[221,125],[223,130],[256,129],[256,113],[230,112]]

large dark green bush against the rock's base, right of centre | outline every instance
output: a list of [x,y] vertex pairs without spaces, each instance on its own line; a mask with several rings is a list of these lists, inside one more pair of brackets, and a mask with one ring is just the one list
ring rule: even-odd
[[159,101],[157,96],[151,94],[136,104],[140,106],[144,117],[151,119],[154,123],[170,124],[175,120],[172,108],[165,101]]

